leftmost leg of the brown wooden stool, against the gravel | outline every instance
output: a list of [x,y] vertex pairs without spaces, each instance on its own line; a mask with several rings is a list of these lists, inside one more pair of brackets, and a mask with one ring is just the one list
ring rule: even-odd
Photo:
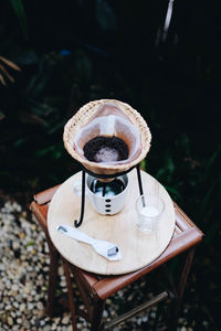
[[46,302],[46,313],[50,317],[54,314],[54,301],[56,295],[56,284],[57,284],[57,265],[59,265],[59,253],[54,248],[50,249],[50,271],[49,271],[49,291],[48,291],[48,302]]

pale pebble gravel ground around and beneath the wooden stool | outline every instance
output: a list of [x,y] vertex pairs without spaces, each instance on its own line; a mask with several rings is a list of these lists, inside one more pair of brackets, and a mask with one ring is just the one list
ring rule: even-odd
[[[44,313],[44,305],[48,292],[49,257],[44,233],[38,221],[17,202],[6,202],[0,209],[0,330],[62,330],[71,331],[69,311],[61,310],[57,317],[50,319]],[[63,268],[60,266],[60,285],[57,293],[66,291]],[[124,311],[136,300],[144,302],[147,296],[146,282],[140,280],[131,286],[128,292],[118,291],[112,300],[107,300],[104,311],[109,319],[115,313]],[[129,295],[128,295],[129,293]],[[151,295],[149,295],[151,297]],[[81,305],[77,301],[76,305]],[[194,322],[188,321],[188,307],[183,305],[180,314],[180,331],[192,331]],[[151,308],[136,318],[116,327],[118,330],[155,330],[154,324],[157,308]],[[164,323],[161,323],[161,330]],[[203,321],[203,328],[208,329],[208,321]],[[78,319],[78,330],[87,331],[88,324]],[[200,329],[198,329],[200,330]]]

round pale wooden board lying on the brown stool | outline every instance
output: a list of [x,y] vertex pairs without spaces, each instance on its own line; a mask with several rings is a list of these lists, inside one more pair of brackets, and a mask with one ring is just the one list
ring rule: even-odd
[[140,232],[137,224],[135,202],[139,196],[136,170],[128,173],[126,204],[116,215],[96,213],[90,201],[85,201],[84,221],[78,229],[97,239],[112,242],[120,247],[122,259],[109,261],[98,255],[87,244],[72,239],[56,231],[61,224],[74,226],[81,213],[81,196],[73,190],[81,181],[81,172],[67,179],[55,192],[48,213],[48,227],[51,239],[61,255],[73,265],[99,275],[120,275],[135,271],[155,260],[167,248],[175,228],[175,210],[165,188],[151,175],[141,171],[144,193],[159,194],[165,202],[158,231],[152,234]]

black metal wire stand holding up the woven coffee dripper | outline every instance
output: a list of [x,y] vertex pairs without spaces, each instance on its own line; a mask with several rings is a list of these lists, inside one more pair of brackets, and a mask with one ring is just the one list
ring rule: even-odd
[[78,227],[82,224],[83,220],[84,220],[85,173],[88,173],[88,174],[91,174],[91,175],[93,175],[94,178],[97,178],[97,179],[112,179],[112,178],[116,178],[116,177],[119,177],[119,175],[123,175],[123,174],[126,174],[126,173],[130,172],[135,167],[137,169],[137,179],[138,179],[138,185],[139,185],[139,193],[140,193],[141,199],[143,199],[143,205],[145,206],[145,199],[144,199],[144,191],[143,191],[143,183],[141,183],[139,163],[137,166],[134,166],[134,167],[129,168],[126,171],[122,171],[122,172],[117,172],[117,173],[113,173],[113,174],[94,173],[94,172],[90,171],[88,169],[86,169],[85,167],[82,166],[82,206],[81,206],[81,215],[80,215],[80,221],[78,222],[77,222],[77,220],[74,221],[74,226]]

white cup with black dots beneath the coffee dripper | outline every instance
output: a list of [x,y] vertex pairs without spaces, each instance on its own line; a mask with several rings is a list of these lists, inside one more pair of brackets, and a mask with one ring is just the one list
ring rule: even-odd
[[[99,182],[94,177],[86,174],[85,195],[93,209],[102,215],[114,215],[125,205],[128,191],[128,175],[119,175],[112,182]],[[81,182],[74,183],[74,193],[82,194]]]

